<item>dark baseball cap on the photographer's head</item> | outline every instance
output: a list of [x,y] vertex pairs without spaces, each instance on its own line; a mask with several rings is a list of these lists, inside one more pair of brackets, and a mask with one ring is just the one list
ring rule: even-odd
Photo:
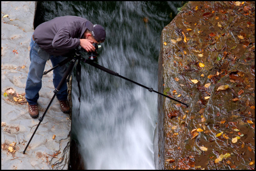
[[98,42],[104,41],[106,37],[105,29],[99,24],[92,24],[91,21],[86,21],[85,26],[92,32],[92,36]]

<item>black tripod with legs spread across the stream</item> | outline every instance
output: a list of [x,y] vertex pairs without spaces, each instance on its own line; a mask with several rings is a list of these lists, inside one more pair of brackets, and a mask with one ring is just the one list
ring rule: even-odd
[[[179,100],[177,100],[177,99],[174,99],[174,98],[169,97],[169,96],[166,96],[166,95],[164,95],[164,94],[162,94],[162,93],[160,93],[160,92],[157,92],[157,91],[155,91],[153,88],[148,88],[148,87],[146,87],[146,86],[144,86],[144,85],[142,85],[142,84],[140,84],[140,83],[138,83],[138,82],[135,82],[135,81],[132,81],[132,80],[130,80],[130,79],[128,79],[128,78],[125,78],[124,76],[119,75],[118,73],[116,73],[116,72],[114,72],[114,71],[111,71],[111,70],[109,70],[109,69],[107,69],[107,68],[105,68],[105,67],[103,67],[103,66],[100,66],[99,64],[94,63],[94,62],[93,62],[92,60],[90,60],[90,59],[84,59],[83,57],[81,57],[81,52],[82,52],[82,51],[83,51],[83,49],[81,48],[81,46],[78,46],[78,48],[76,49],[76,52],[73,54],[73,57],[67,58],[67,59],[63,60],[63,61],[60,62],[57,66],[54,66],[52,69],[50,69],[50,70],[48,70],[47,72],[44,72],[44,73],[43,73],[43,74],[47,74],[48,72],[52,71],[54,68],[56,68],[56,67],[58,67],[58,66],[62,66],[62,65],[64,65],[64,64],[68,63],[68,62],[71,60],[71,63],[70,63],[70,65],[69,65],[68,69],[66,70],[66,72],[64,73],[64,76],[62,77],[62,79],[61,79],[61,81],[60,81],[58,87],[53,91],[53,92],[54,92],[54,95],[53,95],[53,97],[52,97],[52,99],[51,99],[49,105],[47,106],[47,108],[46,108],[46,110],[45,110],[43,116],[38,119],[38,120],[39,120],[39,123],[38,123],[38,125],[37,125],[37,127],[36,127],[34,133],[32,134],[30,140],[28,141],[28,144],[27,144],[25,150],[23,151],[23,154],[26,153],[26,150],[27,150],[27,148],[28,148],[28,145],[30,144],[30,142],[31,142],[31,140],[32,140],[32,138],[33,138],[33,136],[35,135],[37,128],[39,127],[39,125],[40,125],[41,122],[43,121],[44,116],[45,116],[46,112],[48,111],[49,107],[51,106],[52,101],[53,101],[53,99],[55,98],[55,96],[57,95],[59,89],[60,89],[61,86],[66,82],[67,78],[69,79],[69,77],[70,77],[70,75],[71,75],[71,73],[72,73],[73,67],[74,67],[74,65],[75,65],[77,59],[78,59],[77,70],[79,70],[79,69],[81,70],[80,60],[84,60],[85,63],[87,63],[87,64],[89,64],[89,65],[91,65],[91,66],[94,66],[95,68],[98,68],[98,69],[100,69],[100,70],[102,70],[102,71],[104,71],[104,72],[106,72],[106,73],[108,73],[108,74],[111,74],[111,75],[114,75],[114,76],[118,76],[118,77],[120,77],[120,78],[122,78],[122,79],[124,79],[124,80],[127,80],[127,81],[129,81],[129,82],[132,82],[132,83],[134,83],[134,84],[137,84],[137,85],[139,85],[140,87],[143,87],[143,88],[145,88],[145,89],[148,89],[148,91],[150,91],[150,92],[153,91],[153,92],[155,92],[155,93],[157,93],[157,94],[160,94],[160,95],[162,95],[162,96],[164,96],[164,97],[170,98],[170,99],[172,99],[172,100],[174,100],[174,101],[176,101],[176,102],[179,102],[179,103],[181,103],[181,104],[183,104],[183,105],[186,105],[186,106],[188,107],[188,104],[186,104],[186,103],[183,103],[183,102],[181,102],[181,101],[179,101]],[[96,58],[96,57],[95,57],[95,58]],[[76,77],[77,77],[77,78],[76,78],[77,80],[80,80],[80,72],[77,72]],[[79,78],[78,78],[78,77],[79,77]],[[78,87],[79,87],[79,92],[80,92],[80,85],[79,85],[79,82],[78,82]],[[80,101],[80,97],[79,97],[79,101]]]

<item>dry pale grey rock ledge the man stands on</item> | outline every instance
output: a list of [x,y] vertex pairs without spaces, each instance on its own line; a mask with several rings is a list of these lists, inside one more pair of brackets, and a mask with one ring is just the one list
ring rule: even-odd
[[[56,98],[22,153],[39,122],[29,116],[25,99],[35,10],[35,1],[1,2],[1,169],[68,169],[71,120]],[[51,67],[47,61],[45,70]],[[54,94],[52,75],[43,76],[39,117]]]

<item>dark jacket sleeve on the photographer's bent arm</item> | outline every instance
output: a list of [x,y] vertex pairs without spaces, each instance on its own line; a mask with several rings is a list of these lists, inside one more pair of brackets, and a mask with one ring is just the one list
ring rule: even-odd
[[[73,26],[61,27],[52,40],[55,49],[74,49],[80,45],[80,39],[76,38],[78,28]],[[78,34],[79,35],[79,34]]]

